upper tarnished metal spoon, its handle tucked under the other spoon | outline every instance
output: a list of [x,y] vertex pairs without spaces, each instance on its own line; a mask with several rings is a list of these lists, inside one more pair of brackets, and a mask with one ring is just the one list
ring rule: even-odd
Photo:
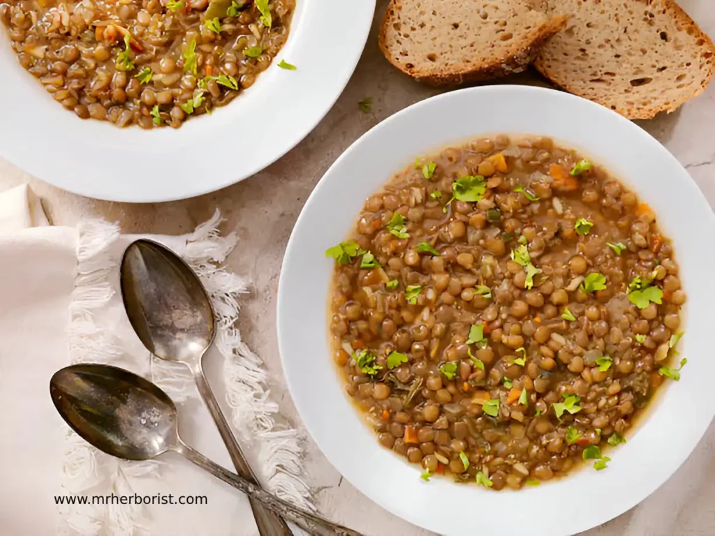
[[[258,485],[204,376],[202,358],[216,329],[211,301],[197,275],[170,249],[141,239],[124,252],[120,282],[124,307],[139,339],[157,357],[189,367],[238,474]],[[255,500],[251,508],[261,535],[290,536],[280,517]]]

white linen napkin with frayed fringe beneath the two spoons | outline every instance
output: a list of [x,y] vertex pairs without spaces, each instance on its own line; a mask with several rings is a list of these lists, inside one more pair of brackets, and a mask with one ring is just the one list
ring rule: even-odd
[[[49,379],[73,362],[104,362],[157,382],[179,405],[179,432],[232,467],[214,423],[183,367],[150,356],[132,331],[118,292],[127,244],[112,224],[49,227],[39,200],[21,186],[0,194],[0,527],[3,534],[255,536],[246,498],[178,455],[125,462],[69,430],[49,397]],[[207,374],[267,489],[312,508],[302,482],[302,442],[276,425],[260,359],[234,326],[246,283],[220,264],[236,237],[220,215],[183,237],[156,237],[192,264],[218,317]],[[253,448],[251,448],[253,447]],[[62,495],[206,497],[202,505],[56,505]],[[146,501],[146,499],[144,499]]]

